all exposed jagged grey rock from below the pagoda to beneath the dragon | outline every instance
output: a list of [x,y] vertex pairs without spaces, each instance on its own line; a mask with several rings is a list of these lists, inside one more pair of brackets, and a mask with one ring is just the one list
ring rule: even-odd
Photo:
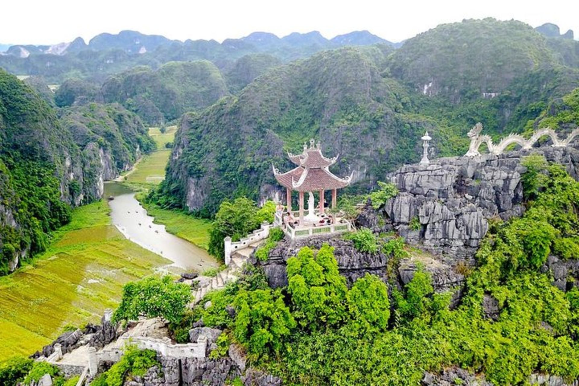
[[[435,291],[461,288],[465,270],[474,264],[474,253],[493,218],[507,220],[524,211],[521,166],[524,156],[538,152],[549,161],[561,163],[579,177],[579,151],[574,148],[540,148],[504,155],[453,157],[433,161],[430,166],[408,165],[391,177],[400,193],[378,211],[368,203],[356,220],[358,227],[375,233],[397,231],[411,245],[424,250],[391,266],[390,256],[358,252],[351,241],[339,236],[284,240],[269,253],[266,262],[253,260],[265,271],[272,287],[287,285],[285,263],[300,248],[320,248],[328,242],[335,248],[340,274],[350,285],[365,273],[403,286],[412,280],[418,266],[433,278]],[[549,258],[545,269],[554,272],[555,283],[567,286],[567,275],[579,274],[579,265]],[[460,291],[454,300],[459,299]],[[488,317],[498,313],[493,299],[485,307]]]

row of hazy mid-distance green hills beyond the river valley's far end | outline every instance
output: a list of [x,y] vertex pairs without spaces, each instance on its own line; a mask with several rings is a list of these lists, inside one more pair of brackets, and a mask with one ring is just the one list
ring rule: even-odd
[[199,111],[243,87],[281,61],[269,54],[250,54],[219,71],[210,61],[170,62],[153,70],[141,66],[110,76],[102,84],[65,80],[54,93],[58,106],[119,102],[146,123],[175,120]]

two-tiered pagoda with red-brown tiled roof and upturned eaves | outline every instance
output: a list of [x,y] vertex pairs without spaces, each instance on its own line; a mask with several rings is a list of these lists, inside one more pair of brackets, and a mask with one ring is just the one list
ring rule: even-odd
[[[310,139],[310,146],[303,144],[303,152],[300,155],[292,155],[288,152],[290,160],[296,164],[296,167],[285,173],[273,166],[273,174],[281,185],[285,186],[287,196],[287,212],[292,214],[291,197],[292,191],[297,190],[299,193],[299,225],[313,222],[314,207],[312,192],[319,192],[318,214],[324,215],[324,192],[332,190],[332,208],[336,206],[337,190],[348,186],[352,179],[352,174],[347,178],[339,178],[328,170],[328,167],[335,164],[338,156],[327,158],[321,152],[320,142],[314,144]],[[304,194],[309,193],[309,215],[304,219]],[[306,220],[306,221],[305,221]]]

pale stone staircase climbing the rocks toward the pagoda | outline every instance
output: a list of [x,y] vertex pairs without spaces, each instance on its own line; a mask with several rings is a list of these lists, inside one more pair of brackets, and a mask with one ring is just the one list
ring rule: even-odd
[[255,251],[260,243],[261,241],[256,242],[255,244],[251,244],[247,248],[233,252],[229,266],[225,270],[217,273],[217,276],[198,276],[193,279],[194,281],[199,282],[199,286],[197,289],[195,289],[195,291],[193,291],[194,300],[193,303],[189,304],[189,306],[193,307],[199,303],[201,299],[203,299],[203,297],[207,294],[207,292],[225,288],[227,283],[236,281],[241,274],[243,264],[247,262],[251,256],[251,253]]

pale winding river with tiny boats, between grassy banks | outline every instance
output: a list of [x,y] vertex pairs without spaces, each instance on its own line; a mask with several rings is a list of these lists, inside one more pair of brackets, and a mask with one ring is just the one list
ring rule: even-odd
[[217,267],[207,251],[165,230],[164,225],[153,223],[154,218],[135,198],[135,192],[118,182],[105,184],[104,197],[109,200],[112,223],[135,244],[171,260],[171,266],[185,270],[203,271]]

